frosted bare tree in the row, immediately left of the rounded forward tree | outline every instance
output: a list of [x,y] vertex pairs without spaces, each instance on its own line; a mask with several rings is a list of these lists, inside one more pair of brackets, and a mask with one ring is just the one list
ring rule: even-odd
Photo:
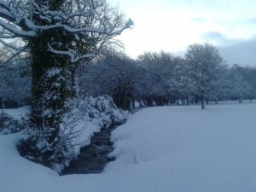
[[177,98],[176,67],[179,59],[170,53],[161,51],[145,52],[139,55],[139,64],[144,69],[140,90],[148,105],[166,105]]

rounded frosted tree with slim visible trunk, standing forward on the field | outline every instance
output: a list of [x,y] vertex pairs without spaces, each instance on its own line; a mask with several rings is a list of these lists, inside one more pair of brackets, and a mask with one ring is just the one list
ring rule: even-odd
[[208,92],[221,83],[224,61],[212,44],[190,45],[185,59],[191,91],[200,96],[201,108],[204,109]]

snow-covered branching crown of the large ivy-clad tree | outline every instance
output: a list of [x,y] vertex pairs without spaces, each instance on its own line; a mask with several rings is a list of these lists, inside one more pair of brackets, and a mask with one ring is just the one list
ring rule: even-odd
[[[47,32],[61,32],[63,39],[49,40],[48,51],[67,55],[71,62],[91,58],[111,39],[131,28],[132,20],[103,0],[67,1],[52,9],[50,1],[12,0],[0,3],[0,38],[33,39]],[[72,42],[66,42],[72,36]]]

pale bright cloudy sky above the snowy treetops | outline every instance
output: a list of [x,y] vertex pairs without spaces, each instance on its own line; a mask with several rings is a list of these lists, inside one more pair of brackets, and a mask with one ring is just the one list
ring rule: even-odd
[[227,64],[256,67],[255,0],[108,0],[134,26],[119,36],[132,58],[145,51],[183,56],[189,44],[215,45]]

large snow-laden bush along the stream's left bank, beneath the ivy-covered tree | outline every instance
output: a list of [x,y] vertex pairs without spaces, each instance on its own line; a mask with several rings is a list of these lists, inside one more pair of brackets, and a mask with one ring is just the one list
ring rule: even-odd
[[129,116],[129,112],[115,106],[110,96],[75,98],[66,102],[66,108],[54,146],[46,139],[49,127],[40,131],[30,128],[24,131],[17,145],[22,156],[61,172],[77,158],[81,147],[90,144],[95,132],[120,125]]

